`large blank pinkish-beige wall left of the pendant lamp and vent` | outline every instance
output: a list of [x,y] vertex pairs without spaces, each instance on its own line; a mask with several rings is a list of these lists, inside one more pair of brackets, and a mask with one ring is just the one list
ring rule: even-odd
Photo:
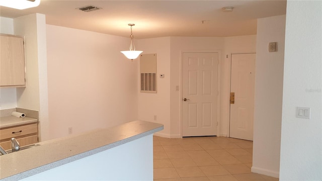
[[129,38],[47,25],[51,138],[138,119],[137,61]]

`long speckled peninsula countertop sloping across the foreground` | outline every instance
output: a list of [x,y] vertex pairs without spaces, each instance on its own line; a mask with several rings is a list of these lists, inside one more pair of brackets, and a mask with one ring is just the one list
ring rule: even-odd
[[1,155],[0,179],[19,180],[161,130],[162,124],[133,121],[40,142],[40,146]]

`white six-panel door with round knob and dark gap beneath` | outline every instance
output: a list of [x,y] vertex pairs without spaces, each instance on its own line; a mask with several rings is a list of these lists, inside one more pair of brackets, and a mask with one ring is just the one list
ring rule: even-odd
[[182,136],[216,135],[218,53],[183,53]]

